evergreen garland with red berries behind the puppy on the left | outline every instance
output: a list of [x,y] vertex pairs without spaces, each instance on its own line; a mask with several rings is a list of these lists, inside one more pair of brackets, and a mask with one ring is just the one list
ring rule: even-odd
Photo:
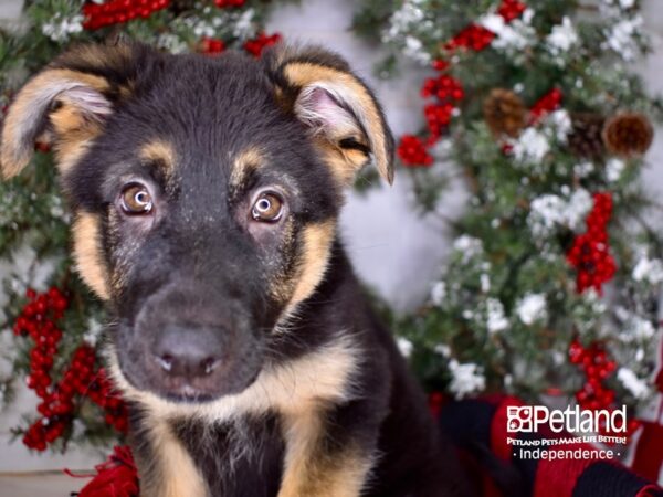
[[[25,25],[0,31],[1,104],[70,44],[123,34],[172,53],[218,56],[232,47],[259,57],[281,38],[263,31],[270,8],[261,0],[28,0]],[[0,396],[10,403],[24,379],[39,403],[15,436],[31,450],[63,452],[70,442],[122,438],[127,412],[99,361],[103,310],[72,271],[70,216],[51,154],[36,148],[29,173],[0,183],[0,325],[13,337],[3,352],[13,371]]]

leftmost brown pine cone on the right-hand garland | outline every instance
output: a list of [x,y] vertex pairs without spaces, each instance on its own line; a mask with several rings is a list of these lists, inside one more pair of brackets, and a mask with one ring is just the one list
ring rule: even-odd
[[484,119],[494,135],[516,137],[527,125],[527,107],[511,89],[495,88],[484,101]]

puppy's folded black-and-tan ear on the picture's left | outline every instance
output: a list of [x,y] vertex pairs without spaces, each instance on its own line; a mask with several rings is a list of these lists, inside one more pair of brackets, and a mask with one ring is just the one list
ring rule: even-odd
[[11,178],[30,162],[35,141],[53,147],[67,170],[98,136],[114,107],[131,93],[141,45],[82,45],[32,77],[9,107],[0,167]]

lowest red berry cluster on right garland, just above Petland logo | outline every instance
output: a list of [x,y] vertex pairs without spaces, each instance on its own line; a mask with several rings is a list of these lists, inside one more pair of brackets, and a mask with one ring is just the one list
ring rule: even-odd
[[[612,411],[614,402],[614,390],[606,388],[603,381],[617,369],[617,363],[608,357],[608,352],[601,343],[592,343],[583,347],[578,339],[569,345],[569,360],[580,366],[585,372],[585,384],[576,392],[576,400],[581,409],[589,411]],[[631,419],[628,421],[627,435],[633,433],[640,422]],[[607,434],[607,430],[602,431]]]

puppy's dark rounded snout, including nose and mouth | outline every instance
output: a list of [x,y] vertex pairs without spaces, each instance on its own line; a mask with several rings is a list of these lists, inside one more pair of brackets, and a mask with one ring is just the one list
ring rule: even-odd
[[139,308],[136,353],[124,364],[141,390],[176,402],[207,402],[250,384],[262,368],[260,329],[245,303],[203,282],[175,277]]

